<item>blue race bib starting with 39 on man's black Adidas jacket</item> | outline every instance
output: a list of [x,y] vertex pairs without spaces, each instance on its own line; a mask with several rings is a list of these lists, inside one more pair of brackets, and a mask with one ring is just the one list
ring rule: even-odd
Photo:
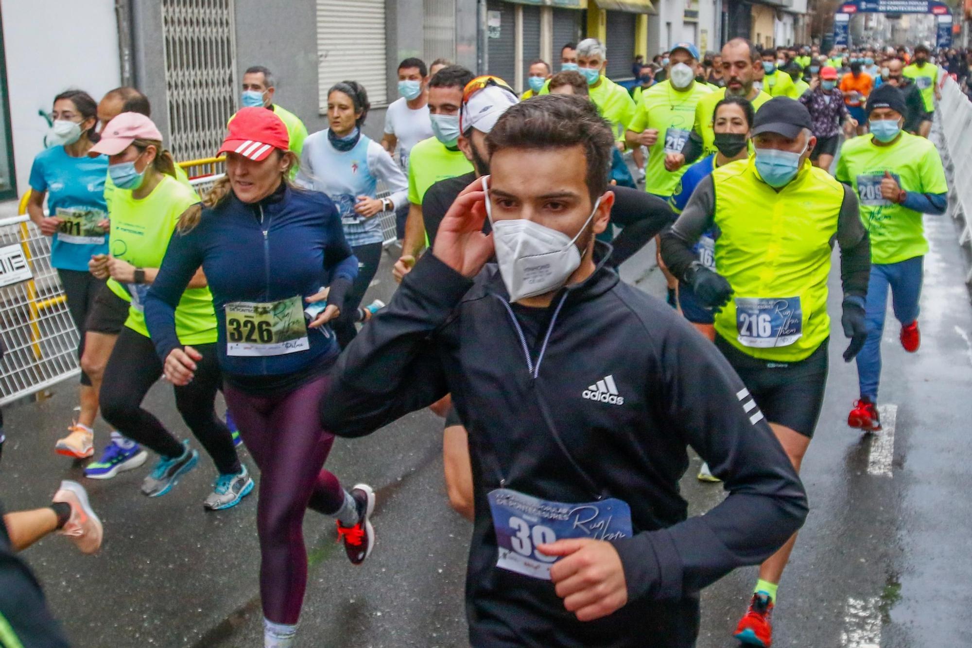
[[489,493],[499,556],[496,565],[518,574],[550,580],[559,557],[538,552],[538,545],[567,538],[630,538],[631,508],[620,499],[586,504],[551,502],[509,488]]

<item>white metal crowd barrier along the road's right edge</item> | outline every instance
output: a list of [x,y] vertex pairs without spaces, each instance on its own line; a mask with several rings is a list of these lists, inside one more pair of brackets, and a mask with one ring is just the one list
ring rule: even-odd
[[[944,68],[938,68],[942,99],[935,111],[938,150],[949,181],[952,217],[961,219],[959,245],[972,253],[972,101]],[[965,275],[972,283],[972,268]]]

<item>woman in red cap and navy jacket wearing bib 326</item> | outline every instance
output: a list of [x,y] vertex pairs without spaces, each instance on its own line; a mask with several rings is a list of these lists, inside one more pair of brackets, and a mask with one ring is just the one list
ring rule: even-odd
[[[260,594],[266,645],[295,637],[307,580],[304,509],[337,519],[348,558],[374,542],[374,493],[351,492],[323,469],[334,437],[316,408],[339,349],[329,322],[358,273],[330,198],[288,182],[296,163],[287,127],[272,111],[244,108],[220,153],[226,178],[183,215],[145,301],[165,378],[185,384],[195,351],[176,338],[175,306],[202,266],[218,320],[226,404],[260,466]],[[330,277],[325,308],[318,302]],[[319,306],[318,306],[319,307]]]

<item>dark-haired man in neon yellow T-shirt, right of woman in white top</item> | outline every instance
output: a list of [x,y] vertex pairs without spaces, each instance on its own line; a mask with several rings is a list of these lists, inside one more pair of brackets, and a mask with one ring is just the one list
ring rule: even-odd
[[463,90],[472,73],[461,65],[450,65],[436,72],[429,82],[429,119],[434,137],[412,147],[408,156],[408,218],[401,241],[401,256],[392,270],[396,280],[408,273],[426,247],[422,198],[439,180],[454,178],[472,170],[472,164],[459,149],[459,112]]

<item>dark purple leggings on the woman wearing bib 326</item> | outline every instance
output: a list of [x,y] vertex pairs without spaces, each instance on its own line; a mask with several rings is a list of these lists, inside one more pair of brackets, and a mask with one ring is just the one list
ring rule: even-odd
[[228,384],[224,390],[226,407],[260,467],[260,598],[263,616],[278,624],[300,618],[307,586],[304,511],[332,514],[344,503],[337,478],[323,469],[334,435],[321,427],[317,407],[329,382],[322,376],[273,396]]

